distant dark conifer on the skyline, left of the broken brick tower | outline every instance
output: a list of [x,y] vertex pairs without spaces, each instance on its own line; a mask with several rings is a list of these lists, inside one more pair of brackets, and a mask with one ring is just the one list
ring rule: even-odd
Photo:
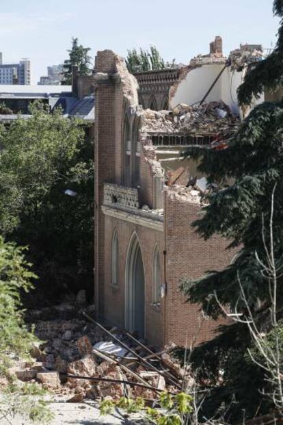
[[79,44],[78,38],[72,38],[72,49],[68,50],[69,58],[64,61],[64,85],[72,83],[72,66],[77,66],[79,75],[90,75],[92,58],[88,54],[90,47]]

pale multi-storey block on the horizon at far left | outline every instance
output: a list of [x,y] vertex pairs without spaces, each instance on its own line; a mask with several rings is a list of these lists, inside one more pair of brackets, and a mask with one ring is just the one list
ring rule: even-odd
[[31,83],[31,62],[27,59],[18,64],[3,64],[3,55],[0,53],[0,84]]

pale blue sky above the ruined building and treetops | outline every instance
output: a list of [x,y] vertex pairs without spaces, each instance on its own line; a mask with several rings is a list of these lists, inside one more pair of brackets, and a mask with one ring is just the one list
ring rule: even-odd
[[248,42],[274,46],[272,0],[0,0],[3,63],[31,60],[31,82],[64,62],[71,38],[122,56],[154,44],[166,61],[188,64],[222,36],[224,53]]

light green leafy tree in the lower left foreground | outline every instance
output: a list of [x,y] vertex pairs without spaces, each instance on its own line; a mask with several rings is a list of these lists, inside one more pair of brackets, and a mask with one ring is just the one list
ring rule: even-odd
[[21,303],[21,292],[29,292],[36,277],[23,250],[0,236],[0,377],[8,382],[1,395],[0,422],[18,414],[45,424],[53,416],[42,398],[46,391],[37,384],[21,385],[9,371],[15,356],[29,359],[31,344],[37,341],[25,326]]

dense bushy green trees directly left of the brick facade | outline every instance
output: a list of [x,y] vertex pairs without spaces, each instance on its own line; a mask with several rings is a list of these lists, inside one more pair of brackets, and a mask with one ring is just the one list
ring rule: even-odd
[[31,114],[0,126],[0,233],[29,246],[41,292],[92,287],[93,142],[61,110]]

